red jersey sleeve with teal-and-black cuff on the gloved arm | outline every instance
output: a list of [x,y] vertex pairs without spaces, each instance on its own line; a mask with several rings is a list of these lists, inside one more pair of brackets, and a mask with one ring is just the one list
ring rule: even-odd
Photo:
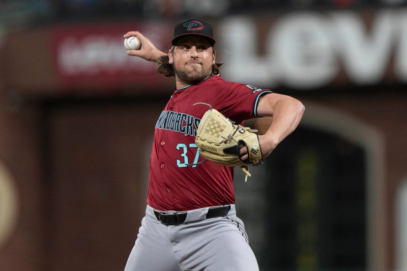
[[218,84],[213,107],[236,123],[258,117],[257,105],[261,96],[272,93],[242,83],[223,81]]

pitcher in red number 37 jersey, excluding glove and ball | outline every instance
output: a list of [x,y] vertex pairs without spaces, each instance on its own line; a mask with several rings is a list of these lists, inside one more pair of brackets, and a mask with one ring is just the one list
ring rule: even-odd
[[[146,216],[125,270],[258,270],[244,224],[236,216],[234,168],[203,162],[195,143],[197,129],[209,106],[236,124],[272,116],[266,133],[258,136],[265,158],[294,131],[304,106],[292,97],[225,81],[209,23],[186,20],[174,33],[167,54],[139,32],[124,36],[141,41],[141,49],[129,50],[129,55],[157,62],[158,72],[176,79],[176,90],[155,126]],[[240,148],[242,161],[247,151]]]

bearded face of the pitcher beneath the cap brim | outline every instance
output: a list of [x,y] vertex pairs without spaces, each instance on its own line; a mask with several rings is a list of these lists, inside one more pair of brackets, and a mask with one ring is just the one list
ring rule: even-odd
[[177,80],[191,84],[211,75],[216,55],[206,39],[192,36],[178,41],[168,56]]

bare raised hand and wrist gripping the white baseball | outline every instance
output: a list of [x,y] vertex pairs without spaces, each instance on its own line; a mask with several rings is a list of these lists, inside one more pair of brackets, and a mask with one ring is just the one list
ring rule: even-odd
[[128,55],[139,56],[146,59],[147,61],[152,62],[157,62],[162,55],[167,55],[166,53],[157,49],[157,47],[150,41],[150,39],[144,37],[138,31],[127,32],[123,37],[126,39],[130,37],[136,37],[141,42],[141,48],[139,50],[128,50]]

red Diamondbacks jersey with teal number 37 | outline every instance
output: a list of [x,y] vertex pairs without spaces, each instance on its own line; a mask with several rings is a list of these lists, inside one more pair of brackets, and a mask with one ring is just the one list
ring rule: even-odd
[[261,95],[271,93],[227,82],[220,75],[177,89],[158,118],[150,158],[147,203],[159,210],[190,210],[235,203],[233,168],[199,156],[196,131],[207,103],[235,123],[256,117]]

